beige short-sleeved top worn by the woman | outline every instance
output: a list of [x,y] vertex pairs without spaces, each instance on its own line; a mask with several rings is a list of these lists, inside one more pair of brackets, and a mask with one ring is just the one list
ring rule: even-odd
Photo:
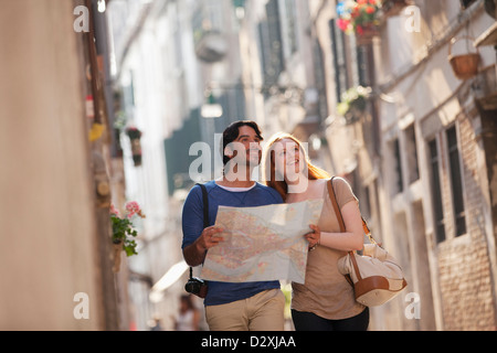
[[[349,202],[358,202],[350,185],[343,179],[334,179],[334,190],[340,208]],[[327,184],[325,184],[322,196],[325,203],[318,226],[321,232],[340,233]],[[329,320],[347,319],[362,312],[364,307],[356,301],[352,287],[338,271],[337,261],[346,255],[347,252],[320,245],[310,250],[307,257],[305,284],[292,284],[292,308],[297,311],[313,312]]]

